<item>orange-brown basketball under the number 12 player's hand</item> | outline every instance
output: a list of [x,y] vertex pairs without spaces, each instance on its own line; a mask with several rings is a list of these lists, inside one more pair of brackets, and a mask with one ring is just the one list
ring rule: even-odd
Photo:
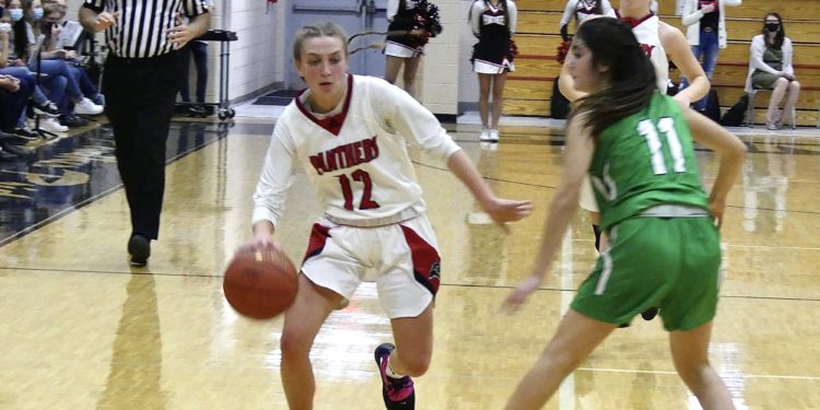
[[270,319],[286,311],[297,288],[296,268],[273,247],[237,250],[222,282],[231,307],[254,319]]

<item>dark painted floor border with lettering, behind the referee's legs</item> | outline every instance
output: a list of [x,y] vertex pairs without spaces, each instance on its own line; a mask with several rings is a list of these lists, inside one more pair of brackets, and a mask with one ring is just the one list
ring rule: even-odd
[[[227,132],[224,125],[175,122],[166,156],[179,160]],[[37,142],[26,157],[0,163],[0,246],[120,185],[109,126]]]

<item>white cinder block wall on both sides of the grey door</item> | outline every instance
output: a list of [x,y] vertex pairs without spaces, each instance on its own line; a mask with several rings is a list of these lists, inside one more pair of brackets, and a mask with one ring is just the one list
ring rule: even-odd
[[[77,20],[82,3],[83,0],[68,0],[68,19]],[[286,27],[291,1],[279,0],[270,7],[261,0],[214,0],[214,3],[216,10],[211,15],[211,27],[234,31],[239,38],[231,43],[227,97],[242,99],[265,87],[282,84],[285,63],[290,61],[290,45],[284,44],[285,30],[296,30]],[[477,80],[469,63],[475,40],[467,13],[472,0],[435,0],[435,3],[444,31],[426,47],[420,91],[422,102],[433,113],[456,115],[459,102],[475,103],[478,98]],[[220,43],[209,43],[209,103],[219,101],[219,54]],[[194,96],[192,61],[190,67]]]

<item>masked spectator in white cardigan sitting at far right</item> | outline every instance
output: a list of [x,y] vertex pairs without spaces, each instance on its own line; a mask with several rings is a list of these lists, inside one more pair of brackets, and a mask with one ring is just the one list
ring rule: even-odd
[[[749,75],[746,79],[746,92],[752,90],[772,90],[766,110],[766,128],[780,129],[783,122],[789,121],[794,125],[792,116],[797,97],[800,94],[800,83],[795,78],[795,69],[792,66],[792,39],[786,37],[783,19],[775,12],[766,14],[763,21],[763,30],[752,38],[749,48]],[[777,107],[783,97],[788,94],[786,104],[781,115]]]

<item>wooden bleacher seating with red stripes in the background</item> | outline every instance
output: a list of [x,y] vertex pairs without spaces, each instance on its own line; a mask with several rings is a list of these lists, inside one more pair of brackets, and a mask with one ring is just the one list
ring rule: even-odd
[[[552,82],[560,72],[555,49],[561,43],[559,21],[564,0],[518,0],[518,30],[515,42],[519,55],[516,71],[507,78],[504,114],[549,116]],[[749,45],[760,33],[765,13],[777,11],[784,19],[786,35],[794,43],[794,66],[803,85],[797,104],[797,124],[816,126],[820,121],[820,8],[815,1],[745,0],[737,8],[727,8],[728,47],[721,50],[712,86],[717,90],[724,108],[730,107],[745,93],[748,73]],[[660,19],[683,28],[675,15],[675,1],[661,1]],[[574,22],[571,25],[571,32]],[[675,74],[673,74],[675,75]],[[675,79],[675,78],[673,78]],[[768,101],[757,98],[758,118],[763,122]],[[762,108],[762,109],[760,109]]]

